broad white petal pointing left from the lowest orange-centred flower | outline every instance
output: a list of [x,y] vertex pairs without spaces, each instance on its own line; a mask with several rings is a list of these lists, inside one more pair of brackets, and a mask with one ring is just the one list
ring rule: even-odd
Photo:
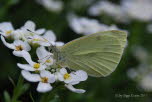
[[22,76],[30,82],[39,82],[41,80],[39,74],[31,74],[29,71],[22,70]]

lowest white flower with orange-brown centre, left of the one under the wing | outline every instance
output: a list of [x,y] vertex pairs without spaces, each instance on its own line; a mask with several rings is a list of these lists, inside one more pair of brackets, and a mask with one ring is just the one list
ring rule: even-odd
[[52,90],[51,83],[55,82],[55,76],[49,71],[42,70],[39,74],[31,74],[28,71],[22,70],[22,76],[30,82],[39,82],[37,91],[48,92]]

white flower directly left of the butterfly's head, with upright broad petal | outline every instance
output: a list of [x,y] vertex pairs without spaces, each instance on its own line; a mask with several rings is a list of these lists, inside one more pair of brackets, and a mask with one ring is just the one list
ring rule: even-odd
[[39,63],[44,63],[48,66],[53,64],[53,54],[48,52],[43,46],[37,48],[36,54],[39,58]]

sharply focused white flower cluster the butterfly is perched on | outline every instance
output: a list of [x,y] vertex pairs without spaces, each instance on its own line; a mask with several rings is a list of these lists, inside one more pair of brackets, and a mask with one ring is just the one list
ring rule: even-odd
[[52,90],[55,82],[63,83],[72,92],[85,92],[83,89],[74,88],[73,85],[85,81],[88,78],[86,72],[52,67],[55,59],[53,53],[46,48],[64,45],[63,42],[56,41],[53,31],[36,29],[32,21],[27,21],[20,29],[14,29],[10,22],[4,22],[0,23],[0,34],[4,45],[13,50],[13,55],[25,59],[26,63],[18,63],[17,66],[27,81],[38,82],[38,92]]

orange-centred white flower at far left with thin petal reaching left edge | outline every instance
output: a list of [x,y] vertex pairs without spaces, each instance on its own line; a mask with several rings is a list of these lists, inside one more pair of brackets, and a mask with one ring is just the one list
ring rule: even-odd
[[13,43],[7,43],[5,38],[1,36],[1,40],[4,45],[10,49],[13,49],[13,54],[15,56],[22,56],[22,51],[30,51],[31,47],[27,42],[23,42],[21,40],[15,40]]

